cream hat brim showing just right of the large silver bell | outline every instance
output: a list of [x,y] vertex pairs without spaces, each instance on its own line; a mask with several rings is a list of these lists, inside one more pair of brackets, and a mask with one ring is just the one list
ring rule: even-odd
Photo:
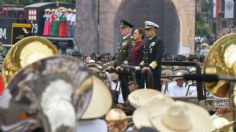
[[92,83],[92,98],[81,119],[95,119],[104,116],[112,105],[112,96],[107,86],[97,77],[92,76],[86,80]]

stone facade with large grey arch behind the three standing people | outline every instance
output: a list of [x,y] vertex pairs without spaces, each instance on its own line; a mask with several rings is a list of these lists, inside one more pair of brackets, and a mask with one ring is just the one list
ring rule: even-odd
[[166,53],[194,52],[195,0],[79,0],[77,10],[75,39],[86,55],[116,53],[120,19],[135,27],[143,27],[145,20],[155,21],[161,26],[158,33],[166,41]]

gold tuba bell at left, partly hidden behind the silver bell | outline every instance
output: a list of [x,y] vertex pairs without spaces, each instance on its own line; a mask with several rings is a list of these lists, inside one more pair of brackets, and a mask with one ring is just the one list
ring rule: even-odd
[[8,51],[3,62],[2,77],[4,83],[8,83],[19,69],[56,54],[59,54],[56,46],[42,37],[30,36],[18,41]]

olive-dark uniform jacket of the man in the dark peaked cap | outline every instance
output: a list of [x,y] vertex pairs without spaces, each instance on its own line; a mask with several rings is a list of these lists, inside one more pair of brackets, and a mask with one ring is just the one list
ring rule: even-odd
[[123,38],[119,44],[115,66],[120,66],[125,60],[130,62],[130,51],[132,48],[133,37],[131,35]]

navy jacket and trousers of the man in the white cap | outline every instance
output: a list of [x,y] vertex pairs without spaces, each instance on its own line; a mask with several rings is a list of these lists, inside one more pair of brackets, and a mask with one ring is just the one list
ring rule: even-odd
[[154,87],[161,89],[160,75],[161,75],[161,60],[164,53],[163,41],[157,36],[145,41],[143,46],[143,59],[140,65],[142,67],[148,66],[152,69]]

